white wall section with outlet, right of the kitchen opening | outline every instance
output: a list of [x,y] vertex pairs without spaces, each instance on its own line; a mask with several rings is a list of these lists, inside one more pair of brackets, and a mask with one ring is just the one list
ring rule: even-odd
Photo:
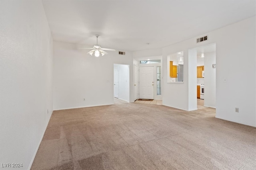
[[[251,126],[256,126],[255,22],[253,17],[214,32],[216,117]],[[235,107],[240,113],[235,112]]]

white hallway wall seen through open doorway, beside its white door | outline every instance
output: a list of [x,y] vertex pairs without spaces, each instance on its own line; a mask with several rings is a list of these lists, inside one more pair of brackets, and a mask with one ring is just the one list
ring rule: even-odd
[[129,102],[129,66],[124,64],[114,64],[119,68],[119,99]]

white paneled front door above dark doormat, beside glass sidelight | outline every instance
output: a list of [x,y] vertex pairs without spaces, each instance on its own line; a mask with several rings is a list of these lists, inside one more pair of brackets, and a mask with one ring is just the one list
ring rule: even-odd
[[140,98],[154,99],[154,66],[140,67]]

